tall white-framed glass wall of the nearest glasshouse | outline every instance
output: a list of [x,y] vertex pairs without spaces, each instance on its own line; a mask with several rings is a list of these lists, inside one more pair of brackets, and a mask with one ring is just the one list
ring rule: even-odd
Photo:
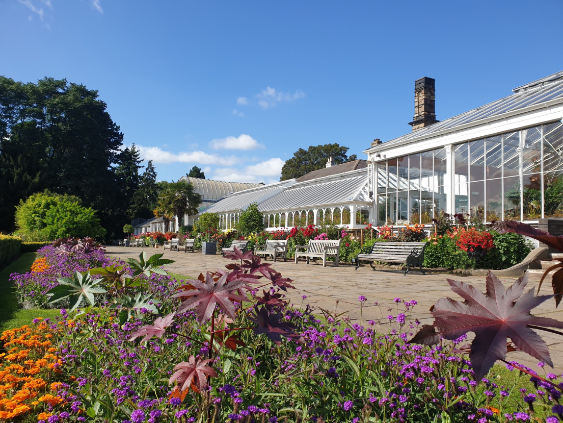
[[[563,217],[563,124],[555,122],[378,162],[377,224],[431,223],[446,211],[485,221]],[[450,186],[453,184],[453,186]]]

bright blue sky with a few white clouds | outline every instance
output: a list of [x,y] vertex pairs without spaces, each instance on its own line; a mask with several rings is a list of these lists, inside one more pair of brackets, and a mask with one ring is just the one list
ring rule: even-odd
[[0,0],[0,73],[99,90],[159,179],[273,182],[298,148],[358,154],[563,70],[563,2]]

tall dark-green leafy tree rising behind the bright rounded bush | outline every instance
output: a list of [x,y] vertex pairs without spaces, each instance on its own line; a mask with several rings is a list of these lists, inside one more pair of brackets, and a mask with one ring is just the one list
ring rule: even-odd
[[49,188],[79,197],[110,233],[120,232],[114,165],[122,142],[96,90],[54,78],[0,77],[0,230],[13,230],[20,200]]

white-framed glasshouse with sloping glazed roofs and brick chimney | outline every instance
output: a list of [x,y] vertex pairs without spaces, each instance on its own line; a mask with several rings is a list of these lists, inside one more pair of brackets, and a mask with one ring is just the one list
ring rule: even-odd
[[[368,160],[230,193],[204,211],[233,228],[256,202],[265,227],[431,223],[442,211],[486,222],[563,217],[563,72],[444,121],[435,81],[415,82],[412,132],[364,151]],[[377,187],[377,189],[376,189]]]

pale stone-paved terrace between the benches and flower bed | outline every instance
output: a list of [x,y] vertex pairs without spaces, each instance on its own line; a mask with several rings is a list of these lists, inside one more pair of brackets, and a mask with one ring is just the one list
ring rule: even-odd
[[[164,253],[165,258],[176,262],[164,266],[168,271],[182,275],[196,277],[200,272],[215,270],[223,267],[230,261],[218,255],[202,255],[201,253],[169,252],[162,248],[145,249],[147,254]],[[106,247],[106,252],[121,258],[138,257],[140,248],[125,248],[117,246]],[[354,271],[354,267],[340,265],[334,267],[329,263],[327,267],[320,264],[307,265],[304,261],[297,265],[291,260],[287,262],[272,263],[272,267],[281,272],[284,277],[290,277],[294,281],[296,289],[290,289],[288,298],[294,305],[309,304],[337,312],[346,312],[351,319],[356,321],[360,318],[358,296],[364,295],[368,298],[367,307],[364,307],[363,320],[381,319],[386,316],[389,308],[396,314],[396,305],[393,299],[399,297],[406,301],[415,299],[418,305],[414,307],[412,318],[418,318],[422,323],[432,323],[432,316],[428,309],[440,297],[452,297],[461,299],[452,292],[446,279],[461,279],[466,283],[485,290],[485,276],[453,276],[448,274],[426,274],[413,271],[406,276],[400,270],[372,270],[368,267],[360,267]],[[505,285],[513,283],[513,279],[501,279]],[[537,287],[537,280],[530,280],[528,287]],[[544,284],[548,293],[549,284]],[[305,295],[307,298],[302,299]],[[338,301],[338,305],[337,305]],[[379,306],[373,303],[378,301]],[[547,301],[533,310],[534,315],[546,316],[557,320],[563,320],[563,306],[555,308],[555,301]],[[540,335],[549,345],[551,358],[557,371],[563,371],[563,337],[539,331]],[[537,360],[530,356],[515,352],[508,355],[509,359],[517,360],[535,368]]]

